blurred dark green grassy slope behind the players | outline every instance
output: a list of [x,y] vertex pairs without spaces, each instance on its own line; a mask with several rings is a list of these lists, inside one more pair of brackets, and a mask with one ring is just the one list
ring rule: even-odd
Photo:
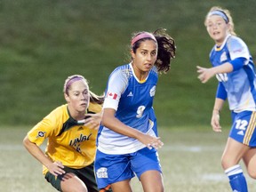
[[[201,84],[196,65],[211,67],[204,17],[213,5],[231,12],[255,60],[254,0],[0,0],[1,126],[30,129],[65,102],[70,75],[85,76],[101,94],[112,70],[130,61],[132,33],[156,28],[166,28],[177,44],[156,88],[159,126],[210,126],[217,80]],[[221,123],[230,123],[228,105]]]

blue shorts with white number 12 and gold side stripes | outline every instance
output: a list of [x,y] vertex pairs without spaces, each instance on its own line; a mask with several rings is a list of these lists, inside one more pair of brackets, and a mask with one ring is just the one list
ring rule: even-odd
[[232,112],[229,137],[249,147],[256,147],[256,111]]

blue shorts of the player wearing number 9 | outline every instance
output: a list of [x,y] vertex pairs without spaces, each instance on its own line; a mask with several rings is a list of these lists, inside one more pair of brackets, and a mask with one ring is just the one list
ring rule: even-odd
[[108,155],[97,150],[94,167],[98,188],[105,188],[121,180],[130,180],[135,174],[140,179],[141,174],[149,170],[162,173],[155,148],[142,148],[124,155]]

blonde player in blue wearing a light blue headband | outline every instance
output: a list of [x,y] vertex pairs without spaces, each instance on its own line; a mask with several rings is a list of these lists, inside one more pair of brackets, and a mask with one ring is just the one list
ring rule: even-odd
[[198,78],[206,83],[212,76],[219,81],[212,111],[212,129],[221,132],[220,109],[228,99],[232,127],[221,164],[232,191],[247,192],[241,159],[249,175],[256,179],[256,90],[252,56],[244,41],[236,36],[230,12],[212,7],[204,22],[215,42],[210,60],[212,68],[197,67]]

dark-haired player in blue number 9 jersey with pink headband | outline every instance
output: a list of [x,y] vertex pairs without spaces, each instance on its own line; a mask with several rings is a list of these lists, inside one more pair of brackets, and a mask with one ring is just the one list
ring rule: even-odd
[[99,188],[130,192],[134,173],[144,191],[164,191],[152,107],[159,72],[170,69],[175,44],[164,30],[132,37],[132,61],[116,68],[108,79],[98,134],[95,174]]

